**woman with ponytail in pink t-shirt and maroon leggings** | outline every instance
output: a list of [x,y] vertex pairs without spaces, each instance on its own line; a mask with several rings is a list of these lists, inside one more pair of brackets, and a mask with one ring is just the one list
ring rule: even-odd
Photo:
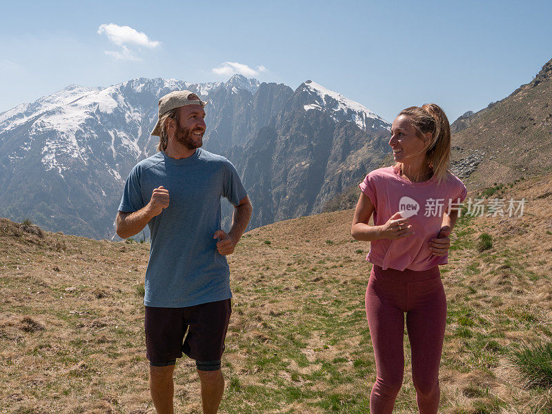
[[366,317],[377,379],[370,411],[393,411],[404,374],[406,313],[418,409],[420,414],[435,414],[446,322],[438,265],[447,263],[449,235],[466,187],[447,169],[451,128],[434,103],[400,112],[391,126],[389,145],[395,165],[373,170],[360,184],[351,227],[355,239],[371,242]]

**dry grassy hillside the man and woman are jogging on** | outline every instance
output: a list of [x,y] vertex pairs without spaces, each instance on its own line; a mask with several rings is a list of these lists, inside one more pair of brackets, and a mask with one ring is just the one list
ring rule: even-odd
[[[475,195],[471,195],[474,197]],[[444,413],[545,413],[511,355],[552,339],[552,178],[491,188],[523,217],[464,216],[441,266],[449,299]],[[230,256],[233,315],[223,413],[367,413],[375,364],[364,313],[369,245],[353,210],[250,231]],[[489,247],[480,241],[488,233]],[[484,250],[483,250],[484,249]],[[154,413],[144,344],[147,244],[94,241],[0,220],[0,413]],[[408,353],[408,339],[405,336]],[[406,362],[397,413],[413,413]],[[179,412],[200,413],[190,359]]]

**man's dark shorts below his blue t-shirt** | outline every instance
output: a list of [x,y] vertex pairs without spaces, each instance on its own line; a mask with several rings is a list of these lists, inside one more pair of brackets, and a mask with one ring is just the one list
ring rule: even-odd
[[184,352],[195,359],[199,371],[220,369],[230,313],[230,299],[186,308],[146,306],[146,357],[150,364],[174,365]]

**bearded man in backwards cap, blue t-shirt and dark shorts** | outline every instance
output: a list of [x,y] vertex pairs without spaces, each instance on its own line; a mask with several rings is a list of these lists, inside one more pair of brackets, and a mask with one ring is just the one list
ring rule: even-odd
[[[196,361],[204,413],[218,411],[232,297],[226,255],[233,253],[251,216],[234,166],[200,148],[205,104],[188,90],[159,99],[152,131],[159,136],[159,152],[132,169],[117,213],[117,234],[123,239],[150,227],[146,357],[158,414],[174,412],[172,373],[182,352]],[[235,206],[228,233],[220,227],[221,196]]]

